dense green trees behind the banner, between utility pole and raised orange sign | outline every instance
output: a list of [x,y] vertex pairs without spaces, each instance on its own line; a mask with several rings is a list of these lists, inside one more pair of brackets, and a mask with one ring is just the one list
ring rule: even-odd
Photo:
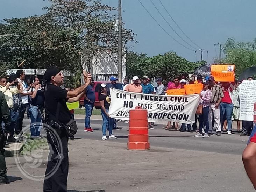
[[177,55],[175,52],[166,52],[164,55],[147,57],[145,54],[129,52],[127,54],[127,76],[142,77],[147,75],[151,78],[163,78],[164,82],[173,80],[173,77],[188,76],[193,74],[195,69],[204,65],[205,62],[190,62]]

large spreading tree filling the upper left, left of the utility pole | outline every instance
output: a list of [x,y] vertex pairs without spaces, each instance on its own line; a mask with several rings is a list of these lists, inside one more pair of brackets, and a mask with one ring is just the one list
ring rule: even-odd
[[[1,69],[46,68],[50,65],[80,73],[81,60],[89,65],[102,50],[118,52],[118,33],[114,31],[116,8],[99,0],[49,0],[45,14],[28,18],[4,19],[0,34]],[[124,25],[123,25],[124,26]],[[136,34],[122,27],[122,45],[136,42]],[[78,80],[74,80],[77,82]]]

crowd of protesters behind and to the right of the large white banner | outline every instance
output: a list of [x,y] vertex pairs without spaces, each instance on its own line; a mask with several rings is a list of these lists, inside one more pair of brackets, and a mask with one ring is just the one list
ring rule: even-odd
[[[207,80],[206,80],[207,79]],[[248,77],[247,80],[253,80],[252,77]],[[213,76],[203,78],[201,75],[197,76],[195,80],[194,76],[186,78],[185,76],[175,76],[172,81],[168,82],[166,87],[162,83],[162,78],[157,78],[157,87],[150,83],[151,79],[147,76],[143,76],[139,79],[134,76],[131,83],[126,78],[124,91],[145,93],[145,94],[166,94],[167,89],[182,89],[185,84],[203,84],[203,90],[200,94],[199,105],[202,106],[202,114],[195,116],[195,123],[185,124],[182,123],[180,128],[177,122],[167,122],[167,125],[163,127],[166,130],[178,130],[180,132],[194,132],[198,133],[195,137],[208,138],[209,135],[216,134],[221,136],[223,132],[227,132],[228,135],[232,134],[232,121],[237,123],[237,132],[241,136],[250,135],[253,122],[242,121],[242,130],[240,130],[240,105],[239,105],[239,84],[235,80],[234,82],[216,82]],[[197,119],[199,121],[199,128],[197,129]],[[226,127],[228,127],[226,129]],[[149,129],[154,129],[152,123],[149,122]]]

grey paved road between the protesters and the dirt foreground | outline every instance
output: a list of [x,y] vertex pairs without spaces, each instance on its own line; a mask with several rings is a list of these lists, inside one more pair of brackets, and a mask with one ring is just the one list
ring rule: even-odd
[[[101,140],[102,137],[102,121],[91,120],[93,133],[84,132],[84,120],[76,119],[78,123],[78,132],[76,138],[88,138],[92,140]],[[24,125],[29,125],[30,120],[24,119]],[[128,123],[118,122],[121,130],[114,130],[113,134],[118,137],[111,142],[127,143],[128,141]],[[149,142],[151,149],[154,147],[167,147],[175,149],[187,149],[195,151],[217,152],[224,154],[241,155],[246,147],[248,136],[239,136],[237,132],[232,135],[222,134],[222,136],[212,135],[209,138],[196,138],[195,133],[183,132],[175,130],[162,129],[163,125],[156,125],[154,130],[149,130]],[[102,141],[104,142],[104,141]]]

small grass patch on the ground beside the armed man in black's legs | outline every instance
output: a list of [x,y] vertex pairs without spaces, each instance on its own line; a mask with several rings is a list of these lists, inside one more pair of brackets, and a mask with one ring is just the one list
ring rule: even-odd
[[48,148],[48,143],[46,138],[42,138],[42,139],[28,139],[26,141],[26,143],[24,143],[23,148],[20,152],[20,155],[26,155],[26,154],[30,154],[32,151],[40,149],[40,148]]

